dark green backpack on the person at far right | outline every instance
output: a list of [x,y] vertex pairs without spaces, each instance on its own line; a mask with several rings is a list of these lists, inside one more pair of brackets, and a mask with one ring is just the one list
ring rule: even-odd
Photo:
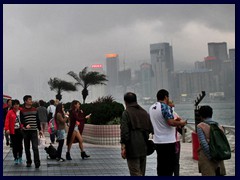
[[224,132],[217,124],[210,125],[209,150],[213,160],[221,161],[231,158],[231,148]]

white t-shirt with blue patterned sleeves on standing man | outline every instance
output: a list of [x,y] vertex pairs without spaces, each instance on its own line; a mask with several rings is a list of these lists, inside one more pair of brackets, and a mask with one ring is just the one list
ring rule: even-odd
[[168,119],[173,119],[170,107],[165,103],[156,102],[149,109],[154,128],[153,141],[156,144],[176,142],[176,127],[168,125]]

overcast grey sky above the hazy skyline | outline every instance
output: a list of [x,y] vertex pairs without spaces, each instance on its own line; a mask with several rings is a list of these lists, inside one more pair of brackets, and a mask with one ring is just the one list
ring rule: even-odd
[[172,45],[175,69],[202,61],[208,42],[235,48],[235,5],[4,4],[3,92],[39,97],[39,88],[25,88],[39,81],[52,93],[50,77],[72,80],[67,72],[105,66],[107,53],[119,54],[120,69],[123,59],[150,63],[150,44],[160,42]]

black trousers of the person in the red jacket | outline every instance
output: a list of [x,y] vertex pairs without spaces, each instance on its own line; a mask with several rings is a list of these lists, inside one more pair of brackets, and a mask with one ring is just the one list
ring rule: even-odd
[[10,134],[12,142],[12,152],[14,159],[22,157],[23,152],[23,135],[20,129],[15,129],[15,134]]

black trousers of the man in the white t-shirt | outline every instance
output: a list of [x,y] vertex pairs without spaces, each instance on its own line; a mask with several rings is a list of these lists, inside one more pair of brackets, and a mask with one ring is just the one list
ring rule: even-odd
[[158,176],[172,176],[175,168],[175,143],[156,144]]

